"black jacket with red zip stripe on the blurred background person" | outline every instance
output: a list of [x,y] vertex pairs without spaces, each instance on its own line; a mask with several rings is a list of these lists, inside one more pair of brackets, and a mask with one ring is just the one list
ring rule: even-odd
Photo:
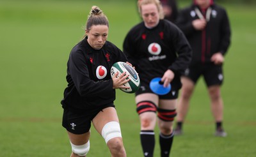
[[[207,25],[202,31],[193,27],[193,20],[205,19]],[[211,63],[211,57],[216,52],[223,55],[230,46],[230,24],[227,11],[216,4],[211,4],[207,10],[201,10],[196,4],[180,10],[176,22],[183,31],[193,49],[194,63]]]

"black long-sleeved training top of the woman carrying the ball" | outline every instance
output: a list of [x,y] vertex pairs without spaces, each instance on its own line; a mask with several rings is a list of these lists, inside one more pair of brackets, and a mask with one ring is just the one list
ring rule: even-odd
[[61,101],[63,108],[88,112],[91,108],[106,105],[115,100],[111,79],[111,66],[127,61],[124,53],[113,43],[106,41],[102,49],[93,49],[87,38],[70,52],[67,63],[68,86]]

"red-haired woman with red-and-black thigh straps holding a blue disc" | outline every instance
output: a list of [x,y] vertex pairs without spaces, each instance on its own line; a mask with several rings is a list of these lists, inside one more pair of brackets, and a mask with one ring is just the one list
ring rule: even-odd
[[[154,128],[158,122],[161,156],[164,157],[170,155],[172,148],[180,72],[188,68],[192,52],[182,31],[163,19],[159,0],[138,1],[138,10],[143,22],[127,33],[124,53],[140,75],[141,86],[135,101],[141,123],[143,154],[147,157],[154,154]],[[161,77],[164,87],[172,84],[168,94],[158,95],[150,90],[150,81],[156,77]]]

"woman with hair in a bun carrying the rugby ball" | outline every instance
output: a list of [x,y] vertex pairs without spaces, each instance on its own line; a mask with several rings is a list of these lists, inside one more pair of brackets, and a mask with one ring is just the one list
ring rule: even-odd
[[[111,156],[125,157],[125,148],[116,109],[115,89],[124,86],[128,75],[111,79],[111,66],[127,61],[124,53],[107,41],[109,23],[97,6],[92,6],[85,38],[71,50],[67,63],[68,87],[61,101],[62,125],[72,147],[71,156],[86,156],[90,149],[91,121],[104,138]],[[131,65],[131,64],[130,64]]]

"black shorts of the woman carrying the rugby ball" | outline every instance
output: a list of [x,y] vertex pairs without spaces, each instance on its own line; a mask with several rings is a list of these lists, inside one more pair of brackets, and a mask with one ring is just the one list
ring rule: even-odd
[[70,133],[77,135],[86,133],[91,128],[92,119],[107,107],[115,107],[115,105],[113,103],[109,103],[103,107],[90,110],[90,112],[86,114],[81,114],[65,108],[63,111],[62,126],[66,128]]

